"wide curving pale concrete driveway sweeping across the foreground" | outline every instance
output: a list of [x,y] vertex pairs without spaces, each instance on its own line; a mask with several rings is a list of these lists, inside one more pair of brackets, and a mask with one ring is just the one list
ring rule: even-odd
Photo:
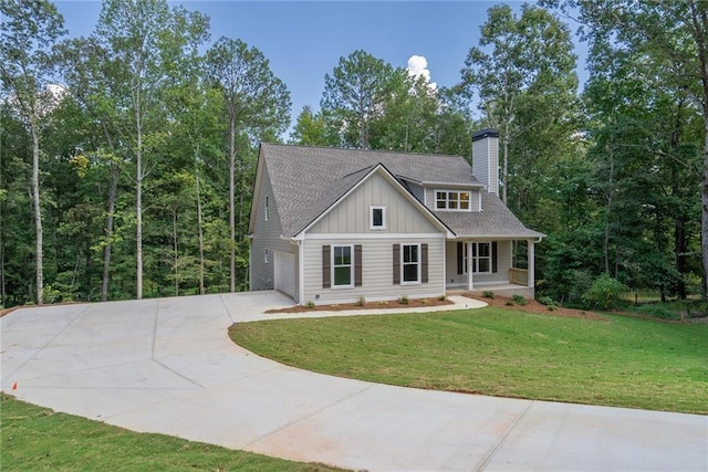
[[347,380],[229,340],[232,323],[291,303],[257,292],[18,310],[1,318],[2,389],[135,431],[351,469],[708,470],[708,417]]

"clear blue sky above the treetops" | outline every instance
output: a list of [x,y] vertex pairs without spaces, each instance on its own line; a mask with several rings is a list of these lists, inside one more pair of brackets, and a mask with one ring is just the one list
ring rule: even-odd
[[[424,56],[430,81],[455,85],[496,1],[183,1],[211,20],[211,41],[240,38],[269,59],[288,86],[294,117],[319,109],[324,75],[357,49],[394,66]],[[521,2],[508,2],[520,8]],[[100,1],[55,1],[70,35],[93,32]],[[574,27],[571,27],[574,28]]]

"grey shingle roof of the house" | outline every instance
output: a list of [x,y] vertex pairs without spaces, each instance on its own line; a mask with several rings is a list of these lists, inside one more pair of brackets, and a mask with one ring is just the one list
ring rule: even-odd
[[[469,164],[459,156],[261,144],[261,158],[284,237],[296,235],[378,164],[413,181],[479,186]],[[496,196],[486,195],[482,208],[482,213],[435,214],[458,235],[542,235],[523,227]]]

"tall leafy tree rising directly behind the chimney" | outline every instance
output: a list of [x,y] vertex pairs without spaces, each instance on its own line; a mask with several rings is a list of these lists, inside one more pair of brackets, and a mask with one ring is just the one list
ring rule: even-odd
[[[577,78],[570,32],[558,18],[527,4],[520,18],[509,6],[494,6],[488,14],[480,46],[471,48],[465,61],[461,88],[469,96],[479,94],[489,125],[500,129],[501,190],[507,203],[510,166],[531,160],[518,151],[512,160],[512,143],[532,144],[544,128],[566,122]],[[559,137],[546,143],[562,143]]]

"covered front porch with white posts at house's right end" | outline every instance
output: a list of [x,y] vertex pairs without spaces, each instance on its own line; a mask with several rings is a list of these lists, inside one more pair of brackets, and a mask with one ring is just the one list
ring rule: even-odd
[[[524,240],[522,245],[514,244],[511,240],[448,241],[446,290],[477,295],[493,292],[501,296],[521,295],[533,298],[533,240]],[[527,268],[514,266],[522,264]]]

